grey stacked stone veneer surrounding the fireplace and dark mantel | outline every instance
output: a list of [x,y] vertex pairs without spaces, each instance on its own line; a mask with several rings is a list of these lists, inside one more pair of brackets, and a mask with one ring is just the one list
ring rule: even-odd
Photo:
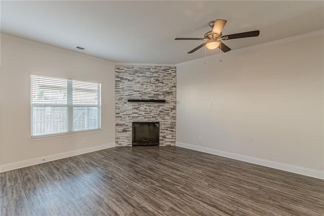
[[[128,102],[165,99],[165,103]],[[176,67],[115,66],[115,142],[132,146],[133,122],[159,122],[159,145],[176,143]]]

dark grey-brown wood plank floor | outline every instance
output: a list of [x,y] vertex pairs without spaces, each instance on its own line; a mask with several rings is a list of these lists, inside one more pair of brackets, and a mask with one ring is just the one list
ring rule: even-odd
[[324,215],[324,181],[179,147],[118,147],[0,174],[1,215]]

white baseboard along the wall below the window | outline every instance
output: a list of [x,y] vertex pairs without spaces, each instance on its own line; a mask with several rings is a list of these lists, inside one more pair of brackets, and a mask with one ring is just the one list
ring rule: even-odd
[[55,160],[59,160],[59,159],[63,159],[63,158],[76,156],[76,155],[83,155],[83,154],[90,153],[90,152],[96,152],[96,151],[103,150],[103,149],[109,149],[112,147],[115,147],[114,142],[100,145],[100,146],[89,147],[89,148],[85,148],[85,149],[78,149],[78,150],[63,152],[63,153],[54,154],[54,155],[47,155],[47,156],[39,157],[39,158],[32,158],[32,159],[23,160],[23,161],[7,163],[7,164],[0,165],[0,172],[5,172],[5,171],[13,170],[13,169],[19,169],[19,168],[23,168],[26,166],[32,166],[32,165],[41,164],[41,163],[46,163],[49,161],[55,161]]

